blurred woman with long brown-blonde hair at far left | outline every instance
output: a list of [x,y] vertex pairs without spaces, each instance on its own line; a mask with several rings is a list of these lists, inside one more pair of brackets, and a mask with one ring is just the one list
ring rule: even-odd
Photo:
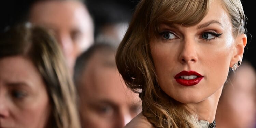
[[0,127],[80,128],[76,91],[61,50],[42,28],[0,34]]

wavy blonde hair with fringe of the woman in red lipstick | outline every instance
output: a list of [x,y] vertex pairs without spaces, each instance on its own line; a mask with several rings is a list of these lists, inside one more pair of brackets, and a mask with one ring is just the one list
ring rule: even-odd
[[[118,47],[117,68],[126,85],[139,93],[143,115],[156,128],[198,128],[197,115],[164,93],[158,85],[149,40],[160,23],[192,26],[207,14],[212,0],[142,0]],[[245,32],[239,0],[224,0],[234,32]]]

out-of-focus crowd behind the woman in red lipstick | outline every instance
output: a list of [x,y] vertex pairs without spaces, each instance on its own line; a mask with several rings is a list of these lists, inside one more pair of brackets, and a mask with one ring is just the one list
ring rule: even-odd
[[[115,53],[132,11],[111,0],[32,2],[24,22],[1,31],[0,128],[123,128],[130,122],[142,102],[119,75]],[[255,69],[243,62],[224,85],[218,128],[254,128],[255,92]]]

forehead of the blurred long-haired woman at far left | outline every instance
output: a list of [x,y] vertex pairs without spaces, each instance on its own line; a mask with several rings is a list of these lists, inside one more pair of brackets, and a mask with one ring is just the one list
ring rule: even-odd
[[0,80],[4,83],[25,83],[30,87],[43,84],[33,63],[24,57],[14,56],[0,59]]

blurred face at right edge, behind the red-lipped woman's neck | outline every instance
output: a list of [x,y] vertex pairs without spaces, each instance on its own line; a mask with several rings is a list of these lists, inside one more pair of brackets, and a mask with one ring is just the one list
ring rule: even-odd
[[231,82],[224,86],[218,104],[216,122],[219,128],[254,128],[256,124],[256,72],[242,63]]

